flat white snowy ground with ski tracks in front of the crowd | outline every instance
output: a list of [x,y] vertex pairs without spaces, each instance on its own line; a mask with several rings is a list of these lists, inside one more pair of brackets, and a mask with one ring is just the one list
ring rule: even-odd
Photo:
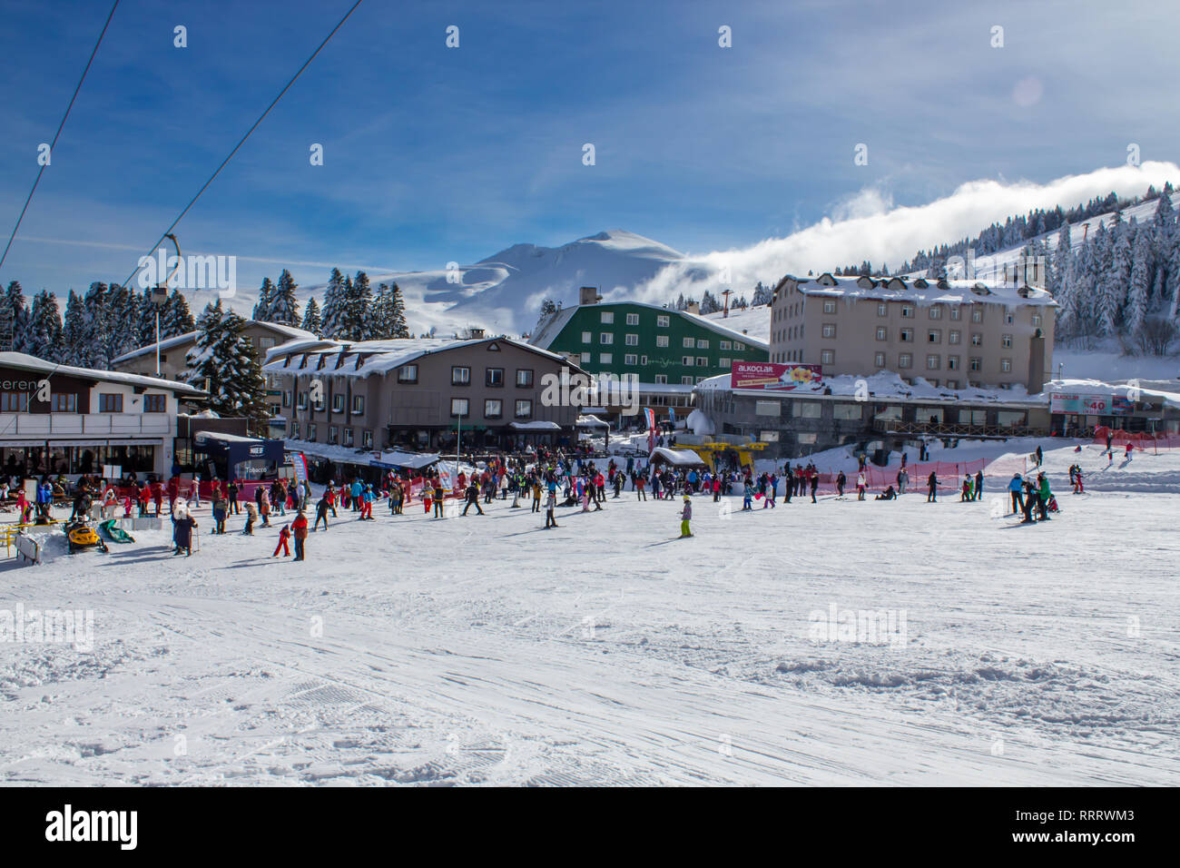
[[[1063,511],[1031,527],[998,495],[695,498],[676,540],[680,502],[628,491],[548,531],[511,501],[341,513],[304,563],[206,511],[190,559],[51,540],[0,608],[91,609],[93,648],[0,644],[0,781],[1174,785],[1178,511],[1152,482],[1180,453],[1050,445]],[[860,612],[894,632],[817,633]]]

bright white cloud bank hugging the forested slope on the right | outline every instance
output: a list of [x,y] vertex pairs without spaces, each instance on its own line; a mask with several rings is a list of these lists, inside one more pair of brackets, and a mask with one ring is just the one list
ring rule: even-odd
[[[732,286],[748,292],[759,280],[774,285],[785,274],[817,274],[868,260],[897,268],[918,250],[933,244],[974,237],[992,222],[1036,208],[1073,208],[1114,190],[1136,196],[1149,184],[1180,182],[1175,163],[1147,162],[1084,175],[1068,175],[1047,184],[1029,181],[970,181],[955,192],[924,205],[893,208],[877,188],[865,188],[833,208],[832,217],[781,239],[767,239],[743,249],[690,255],[661,270],[635,293],[641,300],[662,304],[677,293],[700,298],[716,291],[717,274],[726,267]],[[609,295],[617,295],[610,293]]]

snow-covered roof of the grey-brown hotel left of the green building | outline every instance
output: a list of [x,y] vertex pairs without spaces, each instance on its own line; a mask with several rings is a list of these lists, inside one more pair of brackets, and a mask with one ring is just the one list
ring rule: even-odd
[[[511,344],[553,361],[569,365],[564,357],[512,338],[408,338],[399,340],[294,340],[267,351],[264,373],[314,373],[324,371],[333,377],[368,377],[385,374],[424,355],[458,350],[477,344]],[[306,364],[304,364],[306,357]],[[320,366],[321,359],[323,366]]]

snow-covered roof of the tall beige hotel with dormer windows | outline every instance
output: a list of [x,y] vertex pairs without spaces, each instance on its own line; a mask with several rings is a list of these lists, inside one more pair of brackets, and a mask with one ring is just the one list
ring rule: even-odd
[[981,280],[925,280],[907,281],[903,278],[835,278],[821,274],[818,278],[787,275],[774,288],[775,296],[788,286],[794,286],[804,295],[821,295],[844,299],[873,299],[876,301],[912,301],[916,305],[1037,305],[1056,307],[1044,289],[1011,283],[984,282]]

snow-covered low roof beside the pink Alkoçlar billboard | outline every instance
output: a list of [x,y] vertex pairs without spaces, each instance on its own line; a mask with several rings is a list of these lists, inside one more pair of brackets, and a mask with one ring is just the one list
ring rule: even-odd
[[[867,384],[870,397],[877,400],[900,400],[900,402],[956,402],[956,403],[981,403],[1011,404],[1018,406],[1044,405],[1049,403],[1048,392],[1029,394],[1023,386],[1011,389],[988,389],[984,386],[966,386],[965,389],[945,389],[935,386],[922,377],[914,377],[913,384],[903,380],[892,371],[880,371],[871,377],[854,377],[841,374],[830,377],[817,385],[801,385],[791,390],[779,389],[734,389],[735,394],[756,394],[766,398],[854,398],[860,389],[860,384]],[[729,374],[723,373],[710,377],[696,384],[696,389],[710,390],[732,389]],[[831,392],[828,392],[831,390]]]

